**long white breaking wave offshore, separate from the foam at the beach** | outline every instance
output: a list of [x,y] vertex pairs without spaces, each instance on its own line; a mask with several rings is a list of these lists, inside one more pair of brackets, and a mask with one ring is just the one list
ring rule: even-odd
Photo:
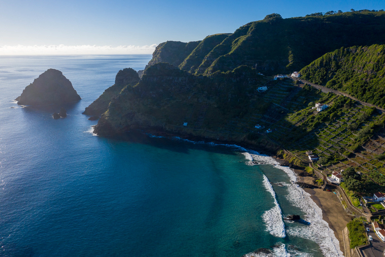
[[271,193],[275,204],[273,208],[267,210],[262,215],[263,221],[266,223],[266,231],[269,231],[270,234],[274,235],[275,237],[286,237],[285,224],[282,220],[282,211],[280,205],[277,202],[273,186],[271,186],[269,179],[265,175],[263,175],[263,185],[266,190]]

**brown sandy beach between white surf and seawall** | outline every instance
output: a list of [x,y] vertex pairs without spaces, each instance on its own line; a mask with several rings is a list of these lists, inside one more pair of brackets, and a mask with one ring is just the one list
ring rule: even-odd
[[[301,172],[301,170],[294,171],[297,175]],[[299,178],[300,182],[313,185],[313,178],[311,176],[299,176]],[[343,210],[340,202],[338,202],[337,195],[333,192],[322,191],[318,188],[304,188],[304,190],[310,194],[310,198],[321,208],[323,220],[325,220],[334,231],[336,239],[340,242],[341,252],[345,254],[342,230],[346,227],[346,224],[350,222],[350,218],[346,216],[346,212]]]

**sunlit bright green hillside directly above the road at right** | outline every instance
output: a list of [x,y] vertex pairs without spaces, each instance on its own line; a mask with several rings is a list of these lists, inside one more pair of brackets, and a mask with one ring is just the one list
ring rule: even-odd
[[311,62],[301,77],[385,107],[385,45],[335,50]]

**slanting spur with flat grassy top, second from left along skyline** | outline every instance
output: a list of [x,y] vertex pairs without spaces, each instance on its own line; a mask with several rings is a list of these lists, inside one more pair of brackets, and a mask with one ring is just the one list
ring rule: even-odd
[[204,57],[218,44],[220,44],[231,33],[214,34],[205,37],[199,45],[179,65],[179,68],[190,73],[195,73],[201,65]]

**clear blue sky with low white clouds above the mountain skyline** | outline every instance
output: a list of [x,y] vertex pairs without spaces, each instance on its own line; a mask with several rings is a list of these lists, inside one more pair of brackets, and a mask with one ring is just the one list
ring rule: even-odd
[[0,55],[151,54],[167,40],[202,40],[248,22],[351,8],[385,9],[385,0],[0,0]]

